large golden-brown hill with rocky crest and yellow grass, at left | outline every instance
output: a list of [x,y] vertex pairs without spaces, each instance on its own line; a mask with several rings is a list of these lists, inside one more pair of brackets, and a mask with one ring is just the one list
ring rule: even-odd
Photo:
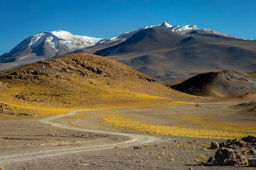
[[70,54],[0,74],[0,113],[49,116],[69,109],[181,103],[186,94],[106,57]]

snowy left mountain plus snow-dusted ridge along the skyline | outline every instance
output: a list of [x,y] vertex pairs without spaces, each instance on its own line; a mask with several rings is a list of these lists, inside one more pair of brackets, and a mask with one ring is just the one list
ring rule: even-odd
[[[0,72],[9,68],[49,59],[62,54],[84,49],[86,52],[96,52],[117,43],[123,42],[139,31],[147,28],[164,28],[178,34],[215,34],[221,37],[236,38],[209,29],[199,29],[196,25],[172,26],[166,22],[156,26],[145,26],[135,31],[125,32],[118,37],[102,39],[71,34],[67,31],[46,31],[32,35],[20,42],[10,52],[0,56]],[[243,39],[245,40],[245,39]],[[82,51],[84,51],[82,50]]]

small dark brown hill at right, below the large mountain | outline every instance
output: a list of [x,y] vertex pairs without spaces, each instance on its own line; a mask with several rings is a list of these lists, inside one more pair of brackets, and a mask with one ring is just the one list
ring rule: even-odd
[[238,96],[256,93],[256,76],[236,71],[199,74],[171,87],[197,96]]

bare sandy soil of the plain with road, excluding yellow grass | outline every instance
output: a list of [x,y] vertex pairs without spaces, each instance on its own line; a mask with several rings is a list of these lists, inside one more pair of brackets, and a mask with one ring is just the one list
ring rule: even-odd
[[[199,125],[170,116],[190,114],[214,115],[212,120],[236,122],[231,112],[225,109],[232,105],[225,103],[204,105],[183,105],[168,107],[119,108],[129,117],[160,125]],[[111,109],[113,111],[113,109]],[[230,110],[229,110],[230,111]],[[43,169],[236,169],[248,167],[205,167],[202,162],[214,156],[210,150],[212,141],[224,139],[203,139],[178,136],[147,135],[129,130],[120,133],[118,128],[103,126],[97,113],[109,110],[82,111],[90,114],[85,119],[73,119],[78,127],[70,126],[68,116],[58,115],[41,119],[0,120],[0,166],[6,170]],[[239,114],[236,113],[236,116]],[[243,116],[240,115],[240,119]],[[253,119],[244,119],[244,122]],[[89,126],[88,126],[89,125]],[[104,129],[105,128],[105,129]],[[134,145],[143,149],[133,149]],[[193,147],[195,146],[195,147]],[[241,153],[241,150],[238,150]],[[171,155],[170,155],[171,154]],[[202,154],[204,159],[196,160]],[[252,157],[246,155],[247,158]],[[253,168],[252,168],[253,169]]]

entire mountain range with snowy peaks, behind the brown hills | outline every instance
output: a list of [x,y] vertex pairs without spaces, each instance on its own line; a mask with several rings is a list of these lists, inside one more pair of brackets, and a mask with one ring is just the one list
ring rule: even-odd
[[166,22],[109,39],[48,31],[26,38],[0,56],[0,72],[63,54],[85,52],[110,57],[161,82],[169,82],[207,71],[255,71],[255,51],[256,41]]

